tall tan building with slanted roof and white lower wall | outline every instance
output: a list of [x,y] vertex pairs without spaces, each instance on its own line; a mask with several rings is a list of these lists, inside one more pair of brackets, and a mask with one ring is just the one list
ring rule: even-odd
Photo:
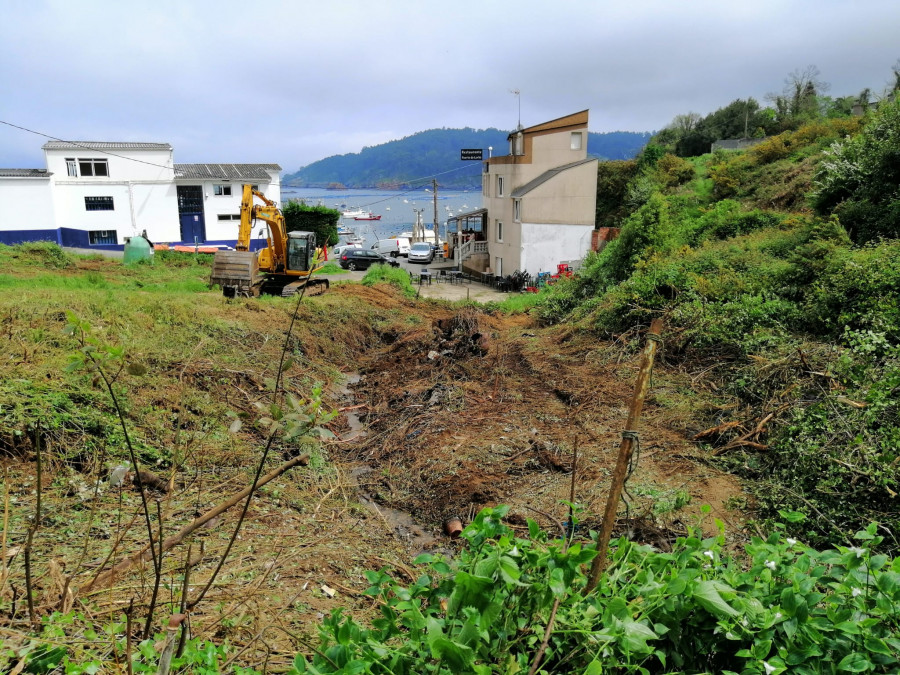
[[587,110],[509,135],[509,154],[484,162],[487,251],[466,267],[555,273],[559,263],[584,257],[597,205],[597,160],[588,158],[587,140]]

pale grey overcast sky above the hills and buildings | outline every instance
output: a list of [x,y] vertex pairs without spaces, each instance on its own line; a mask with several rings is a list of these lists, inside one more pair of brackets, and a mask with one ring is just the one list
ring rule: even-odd
[[[440,127],[651,131],[816,65],[882,91],[897,0],[0,0],[0,120],[286,171]],[[511,90],[518,89],[517,96]],[[46,139],[0,124],[0,167]]]

